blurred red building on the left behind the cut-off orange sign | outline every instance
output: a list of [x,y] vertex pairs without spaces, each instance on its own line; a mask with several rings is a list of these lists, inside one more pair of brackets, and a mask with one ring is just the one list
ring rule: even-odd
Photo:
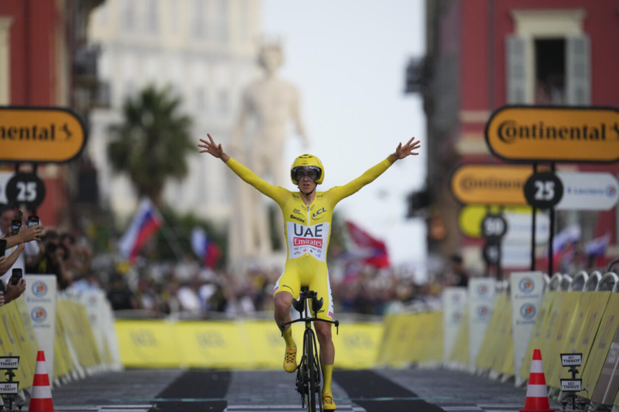
[[[94,66],[84,59],[86,25],[102,2],[0,2],[0,105],[70,107],[87,121],[99,84]],[[81,165],[82,160],[38,168],[46,196],[37,213],[45,225],[71,225],[77,217],[75,172]],[[14,170],[6,165],[0,179],[6,183]],[[6,201],[3,197],[4,185],[0,201]]]

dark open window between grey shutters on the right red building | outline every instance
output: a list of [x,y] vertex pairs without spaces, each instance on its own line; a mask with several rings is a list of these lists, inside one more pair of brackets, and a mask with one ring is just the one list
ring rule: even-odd
[[565,39],[539,39],[535,46],[535,105],[565,105]]

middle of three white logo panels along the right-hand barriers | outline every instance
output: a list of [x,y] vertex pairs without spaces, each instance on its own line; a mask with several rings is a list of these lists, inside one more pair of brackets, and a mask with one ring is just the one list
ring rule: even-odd
[[475,369],[475,359],[492,318],[495,295],[494,278],[469,280],[469,367],[471,370]]

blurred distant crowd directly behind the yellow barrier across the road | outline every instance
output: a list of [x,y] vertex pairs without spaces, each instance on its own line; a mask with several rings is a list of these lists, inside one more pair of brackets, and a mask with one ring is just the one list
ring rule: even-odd
[[[392,270],[352,266],[356,268],[348,267],[345,275],[331,277],[336,312],[383,315],[425,304],[432,295],[427,286]],[[188,256],[183,262],[136,265],[126,273],[113,273],[108,300],[115,310],[141,309],[155,316],[271,317],[273,286],[280,274],[281,268],[215,271]]]

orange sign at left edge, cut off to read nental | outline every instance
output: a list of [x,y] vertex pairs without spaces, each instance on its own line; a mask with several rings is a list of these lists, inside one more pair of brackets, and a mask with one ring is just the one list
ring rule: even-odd
[[61,163],[84,147],[84,124],[65,108],[0,107],[0,161]]

